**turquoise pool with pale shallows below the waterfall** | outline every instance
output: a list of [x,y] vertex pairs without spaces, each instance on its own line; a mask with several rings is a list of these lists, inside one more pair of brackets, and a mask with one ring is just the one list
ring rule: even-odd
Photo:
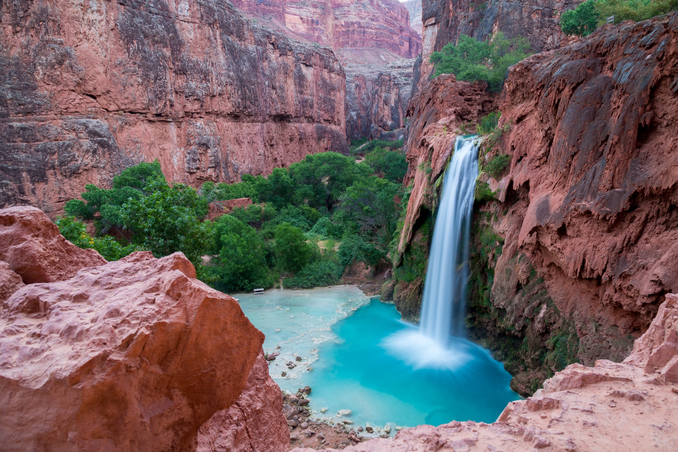
[[[264,350],[281,347],[271,376],[283,390],[311,386],[317,417],[351,409],[350,419],[363,426],[494,422],[519,398],[509,388],[511,375],[487,350],[462,339],[451,350],[435,350],[418,327],[399,320],[393,304],[370,300],[356,287],[236,296],[266,335]],[[286,361],[298,366],[290,371]]]

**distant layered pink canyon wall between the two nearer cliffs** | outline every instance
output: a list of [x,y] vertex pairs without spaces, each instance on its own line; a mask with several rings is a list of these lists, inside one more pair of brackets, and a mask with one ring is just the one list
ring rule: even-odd
[[[346,138],[402,136],[412,60],[421,38],[397,0],[235,0],[246,14],[281,32],[332,48],[346,72]],[[405,61],[403,61],[405,60]],[[395,64],[391,66],[391,64]],[[405,89],[403,89],[405,88]],[[388,110],[384,115],[384,111]],[[393,112],[391,112],[393,110]],[[372,127],[376,125],[376,127]]]

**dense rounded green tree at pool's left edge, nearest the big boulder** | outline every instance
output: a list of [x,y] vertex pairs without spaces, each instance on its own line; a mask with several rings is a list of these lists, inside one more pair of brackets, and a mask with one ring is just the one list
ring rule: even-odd
[[213,254],[218,254],[212,271],[217,286],[227,292],[270,287],[264,241],[256,230],[231,215],[222,215],[212,227]]

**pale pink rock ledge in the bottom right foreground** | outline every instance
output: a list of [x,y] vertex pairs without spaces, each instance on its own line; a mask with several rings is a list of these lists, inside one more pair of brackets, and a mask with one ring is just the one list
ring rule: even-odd
[[418,426],[344,451],[675,451],[677,382],[678,295],[669,293],[623,363],[570,365],[533,397],[509,403],[494,424]]

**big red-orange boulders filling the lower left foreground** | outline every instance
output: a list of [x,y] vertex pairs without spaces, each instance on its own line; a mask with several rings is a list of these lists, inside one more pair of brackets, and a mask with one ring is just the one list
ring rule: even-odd
[[[0,281],[13,285],[0,298],[3,450],[289,447],[264,336],[233,298],[182,253],[92,262],[52,226],[33,207],[0,210],[0,257],[12,258]],[[60,272],[30,270],[41,261]],[[199,433],[205,422],[216,432]]]

